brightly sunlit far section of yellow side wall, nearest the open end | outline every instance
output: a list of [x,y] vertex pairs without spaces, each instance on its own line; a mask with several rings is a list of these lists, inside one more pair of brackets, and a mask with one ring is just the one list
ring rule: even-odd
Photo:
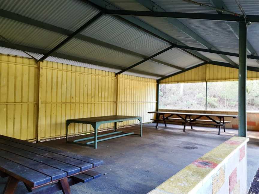
[[[150,122],[153,114],[147,111],[156,110],[156,80],[118,75],[118,115],[141,116],[142,122]],[[137,120],[125,121],[118,126],[133,125]]]

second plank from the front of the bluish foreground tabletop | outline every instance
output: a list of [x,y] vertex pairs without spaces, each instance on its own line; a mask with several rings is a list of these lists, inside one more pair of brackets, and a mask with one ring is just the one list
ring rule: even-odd
[[41,172],[51,177],[52,181],[67,176],[67,173],[62,170],[10,153],[8,151],[0,150],[0,156],[7,160],[11,160],[17,164],[20,164],[22,166],[25,166],[27,168],[33,169],[37,172]]

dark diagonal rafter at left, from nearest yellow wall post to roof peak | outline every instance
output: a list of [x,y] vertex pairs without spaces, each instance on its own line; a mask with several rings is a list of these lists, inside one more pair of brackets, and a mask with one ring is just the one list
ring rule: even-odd
[[102,12],[98,13],[94,17],[92,17],[88,22],[86,22],[84,25],[82,25],[80,28],[78,28],[76,31],[74,31],[72,34],[70,34],[67,38],[65,38],[61,43],[59,43],[57,46],[52,48],[49,52],[47,52],[43,57],[41,57],[38,61],[43,61],[46,59],[50,54],[57,51],[59,48],[61,48],[64,44],[66,44],[69,40],[71,40],[76,34],[79,34],[82,30],[84,30],[86,27],[91,25],[94,21],[96,21],[98,18],[100,18],[103,15]]

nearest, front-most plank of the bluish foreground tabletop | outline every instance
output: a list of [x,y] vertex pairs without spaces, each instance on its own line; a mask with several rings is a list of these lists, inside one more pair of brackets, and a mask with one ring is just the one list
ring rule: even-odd
[[10,160],[6,160],[2,157],[0,157],[0,170],[14,178],[22,180],[31,187],[36,187],[51,181],[51,178],[47,175],[14,163]]

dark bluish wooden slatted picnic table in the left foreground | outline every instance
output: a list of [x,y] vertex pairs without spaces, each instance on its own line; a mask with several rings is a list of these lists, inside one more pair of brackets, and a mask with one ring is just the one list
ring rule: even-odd
[[101,176],[93,171],[103,160],[0,135],[0,175],[8,177],[4,194],[14,193],[19,181],[28,192],[45,194]]

